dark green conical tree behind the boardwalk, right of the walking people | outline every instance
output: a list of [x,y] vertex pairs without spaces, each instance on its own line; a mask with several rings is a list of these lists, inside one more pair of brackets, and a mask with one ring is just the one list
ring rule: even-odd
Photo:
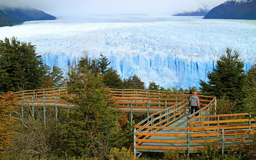
[[202,92],[216,97],[226,96],[232,101],[242,102],[245,84],[244,62],[239,59],[235,50],[227,48],[226,55],[222,55],[216,62],[212,72],[207,73],[208,82],[200,80]]

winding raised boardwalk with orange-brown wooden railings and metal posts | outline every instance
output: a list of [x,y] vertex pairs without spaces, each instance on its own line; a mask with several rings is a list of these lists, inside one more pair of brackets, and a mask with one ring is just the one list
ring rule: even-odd
[[[176,150],[186,153],[198,153],[206,143],[215,143],[222,153],[230,148],[246,147],[251,141],[249,134],[256,131],[254,119],[248,113],[233,115],[211,115],[216,106],[216,98],[200,96],[201,109],[190,115],[187,104],[188,94],[162,95],[160,91],[109,89],[111,99],[116,101],[118,112],[146,114],[148,117],[134,126],[134,155],[143,152],[164,152]],[[55,109],[58,117],[60,109],[68,111],[78,109],[76,104],[68,103],[63,97],[69,95],[66,88],[30,90],[14,93],[22,109]],[[238,119],[240,116],[242,118]],[[225,118],[223,118],[225,117]],[[225,119],[225,120],[224,120]]]

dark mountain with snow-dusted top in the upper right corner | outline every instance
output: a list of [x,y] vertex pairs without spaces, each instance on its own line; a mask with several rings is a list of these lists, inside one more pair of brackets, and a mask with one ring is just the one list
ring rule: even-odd
[[204,19],[256,20],[256,0],[228,0],[209,11]]

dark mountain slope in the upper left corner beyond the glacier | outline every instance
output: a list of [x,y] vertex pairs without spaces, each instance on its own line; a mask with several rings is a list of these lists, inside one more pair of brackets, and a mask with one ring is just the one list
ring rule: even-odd
[[[2,7],[0,9],[0,23],[5,24],[3,26],[10,26],[10,23],[14,25],[22,24],[25,21],[31,21],[31,20],[55,20],[55,19],[56,17],[33,8]],[[6,23],[6,21],[9,23]]]

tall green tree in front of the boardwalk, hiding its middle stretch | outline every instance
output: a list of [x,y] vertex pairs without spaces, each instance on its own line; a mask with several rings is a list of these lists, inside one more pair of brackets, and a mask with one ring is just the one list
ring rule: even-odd
[[103,159],[109,149],[120,143],[121,127],[117,121],[115,103],[110,101],[102,75],[94,74],[84,66],[67,90],[77,98],[69,100],[79,109],[70,112],[63,125],[64,151],[70,156],[92,156]]

